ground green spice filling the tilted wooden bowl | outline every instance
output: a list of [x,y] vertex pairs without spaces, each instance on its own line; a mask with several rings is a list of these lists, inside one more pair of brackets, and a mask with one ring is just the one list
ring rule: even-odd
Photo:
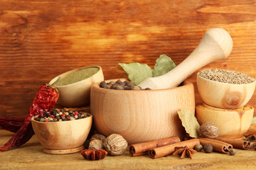
[[69,74],[68,77],[64,77],[63,79],[60,79],[60,81],[58,81],[56,86],[65,86],[68,84],[74,84],[78,81],[91,77],[93,74],[96,74],[98,71],[99,71],[99,68],[97,67],[81,69],[78,72]]

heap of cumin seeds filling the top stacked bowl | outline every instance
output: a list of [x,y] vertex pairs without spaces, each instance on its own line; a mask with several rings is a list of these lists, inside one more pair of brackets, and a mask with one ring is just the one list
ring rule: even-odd
[[255,81],[255,79],[247,74],[225,69],[204,69],[198,72],[198,76],[228,84],[249,84]]

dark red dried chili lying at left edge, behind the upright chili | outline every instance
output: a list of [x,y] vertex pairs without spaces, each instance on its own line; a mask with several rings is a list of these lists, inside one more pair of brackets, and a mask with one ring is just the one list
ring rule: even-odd
[[25,118],[5,118],[0,116],[0,129],[17,132],[23,125]]

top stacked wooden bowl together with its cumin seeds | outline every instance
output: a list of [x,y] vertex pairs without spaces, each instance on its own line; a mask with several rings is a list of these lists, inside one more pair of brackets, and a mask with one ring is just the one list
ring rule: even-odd
[[227,109],[245,106],[255,91],[255,82],[246,74],[224,69],[204,69],[196,79],[204,103]]

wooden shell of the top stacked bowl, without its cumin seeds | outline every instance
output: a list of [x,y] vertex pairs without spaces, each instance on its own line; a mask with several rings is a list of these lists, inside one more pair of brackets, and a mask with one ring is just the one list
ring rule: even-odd
[[198,92],[204,103],[216,108],[241,108],[250,101],[255,91],[255,82],[227,84],[205,79],[197,75]]

